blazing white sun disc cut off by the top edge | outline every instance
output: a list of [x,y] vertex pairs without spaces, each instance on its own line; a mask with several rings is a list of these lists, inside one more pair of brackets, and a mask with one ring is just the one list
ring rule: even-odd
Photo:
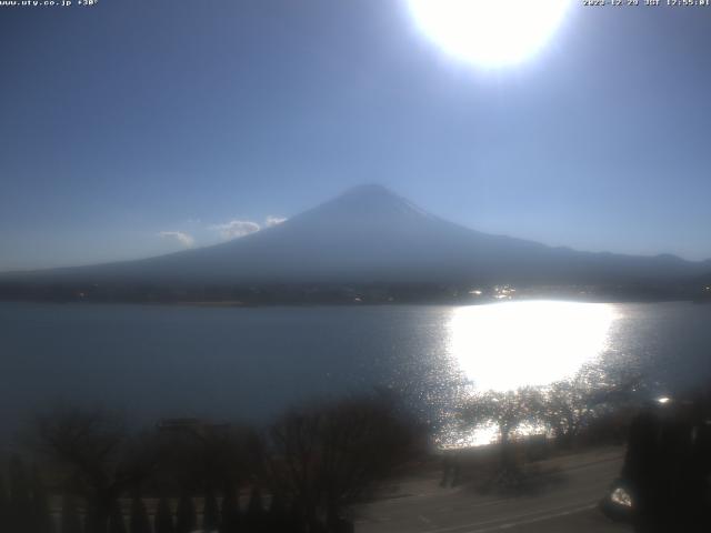
[[407,0],[418,27],[447,53],[497,68],[533,56],[570,0]]

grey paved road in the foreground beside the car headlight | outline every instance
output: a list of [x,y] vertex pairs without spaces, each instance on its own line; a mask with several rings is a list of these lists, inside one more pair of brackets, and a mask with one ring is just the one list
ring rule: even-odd
[[439,475],[403,482],[393,497],[362,510],[357,533],[629,532],[597,509],[621,466],[622,451],[607,449],[549,462],[559,483],[535,496],[482,496],[462,486],[442,489]]

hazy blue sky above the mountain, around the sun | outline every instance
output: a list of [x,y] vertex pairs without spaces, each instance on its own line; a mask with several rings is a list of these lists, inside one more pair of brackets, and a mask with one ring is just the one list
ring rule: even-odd
[[579,3],[490,71],[399,0],[0,8],[0,270],[219,242],[363,182],[482,231],[711,258],[711,8]]

